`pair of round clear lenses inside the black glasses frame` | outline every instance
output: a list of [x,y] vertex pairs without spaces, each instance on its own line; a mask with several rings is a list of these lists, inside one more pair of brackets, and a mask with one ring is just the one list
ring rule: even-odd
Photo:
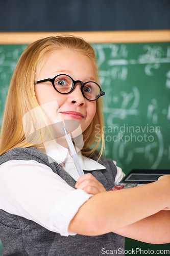
[[[73,82],[70,77],[59,75],[56,77],[54,85],[60,93],[68,93],[72,89]],[[100,95],[100,88],[95,82],[88,82],[84,84],[83,93],[87,99],[95,100]]]

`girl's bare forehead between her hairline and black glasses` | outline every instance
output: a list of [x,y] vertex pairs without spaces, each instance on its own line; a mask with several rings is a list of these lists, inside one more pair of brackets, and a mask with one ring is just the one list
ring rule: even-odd
[[87,55],[77,50],[53,50],[46,54],[39,76],[55,75],[61,71],[69,74],[84,73],[96,77],[96,66]]

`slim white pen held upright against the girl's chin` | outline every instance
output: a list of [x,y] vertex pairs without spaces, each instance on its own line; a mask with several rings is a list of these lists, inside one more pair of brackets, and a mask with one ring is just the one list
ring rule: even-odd
[[79,163],[79,160],[78,160],[78,157],[77,157],[77,152],[75,150],[74,144],[72,143],[71,137],[69,136],[69,133],[67,132],[67,130],[66,130],[64,125],[63,125],[63,129],[64,129],[65,138],[66,138],[66,141],[67,141],[67,144],[68,144],[71,156],[72,156],[72,158],[73,158],[73,160],[75,162],[75,165],[76,165],[76,168],[78,170],[79,175],[82,176],[82,175],[84,175],[84,173],[83,173],[83,170],[82,170],[82,168],[80,166],[80,163]]

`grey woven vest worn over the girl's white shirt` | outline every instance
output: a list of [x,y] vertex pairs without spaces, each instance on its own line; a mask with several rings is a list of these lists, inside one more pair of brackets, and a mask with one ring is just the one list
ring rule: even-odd
[[[95,161],[98,159],[95,153],[91,158]],[[46,154],[35,147],[14,148],[0,157],[0,164],[9,160],[35,160],[50,166],[54,173],[75,188],[76,181],[57,162],[49,163]],[[106,166],[106,169],[93,170],[90,173],[108,190],[114,184],[116,167],[112,160],[103,157],[99,163]],[[84,173],[88,172],[85,170]],[[107,233],[95,237],[81,236],[79,234],[64,237],[31,220],[9,214],[1,209],[0,239],[4,246],[4,256],[99,256],[103,255],[104,252],[107,252],[107,254],[111,252],[112,255],[124,255],[120,252],[123,251],[125,244],[124,237],[115,233]]]

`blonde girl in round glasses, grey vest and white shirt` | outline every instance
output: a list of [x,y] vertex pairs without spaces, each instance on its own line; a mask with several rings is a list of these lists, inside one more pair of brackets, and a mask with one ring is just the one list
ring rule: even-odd
[[[22,53],[1,131],[3,255],[102,255],[102,248],[124,255],[125,236],[170,242],[168,175],[109,191],[124,174],[102,157],[103,129],[100,154],[99,140],[94,145],[96,124],[104,125],[102,95],[94,50],[83,39],[48,37]],[[83,135],[81,177],[59,125],[72,121]]]

